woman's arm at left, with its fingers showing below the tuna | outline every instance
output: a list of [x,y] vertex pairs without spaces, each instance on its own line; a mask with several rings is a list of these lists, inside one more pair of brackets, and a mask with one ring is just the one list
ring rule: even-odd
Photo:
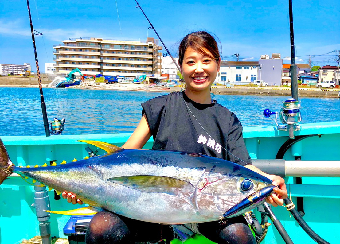
[[[135,131],[132,133],[130,138],[122,145],[124,149],[139,149],[142,148],[145,143],[150,139],[151,137],[151,130],[147,121],[147,117],[144,114],[135,129]],[[67,202],[72,204],[80,204],[82,205],[83,202],[80,199],[77,199],[77,196],[75,196],[72,192],[64,191],[62,194],[62,197],[64,199],[67,199]]]

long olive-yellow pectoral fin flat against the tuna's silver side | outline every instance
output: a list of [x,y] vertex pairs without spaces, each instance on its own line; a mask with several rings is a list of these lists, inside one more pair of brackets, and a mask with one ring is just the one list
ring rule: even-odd
[[161,192],[170,195],[177,195],[178,191],[182,191],[184,188],[194,190],[194,186],[188,181],[157,175],[131,175],[109,178],[108,181],[138,191]]

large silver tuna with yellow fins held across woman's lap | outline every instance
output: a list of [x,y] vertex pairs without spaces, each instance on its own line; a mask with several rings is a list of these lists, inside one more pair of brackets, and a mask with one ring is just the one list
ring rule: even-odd
[[108,153],[48,166],[17,167],[0,139],[0,183],[17,173],[57,192],[73,192],[95,209],[162,224],[200,223],[241,215],[263,204],[273,192],[270,179],[223,159],[83,142]]

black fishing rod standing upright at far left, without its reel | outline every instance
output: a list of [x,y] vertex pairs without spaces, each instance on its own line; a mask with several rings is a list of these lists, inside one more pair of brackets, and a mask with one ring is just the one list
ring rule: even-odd
[[[46,136],[50,136],[51,134],[50,134],[49,126],[48,126],[46,103],[45,103],[45,100],[44,100],[43,88],[41,87],[41,77],[40,77],[40,71],[39,71],[38,55],[37,55],[37,50],[36,50],[36,47],[35,47],[35,38],[34,38],[34,35],[40,36],[40,35],[43,35],[43,34],[38,32],[38,31],[33,30],[30,3],[29,3],[28,0],[27,0],[27,8],[28,8],[28,15],[30,16],[31,34],[32,34],[32,41],[33,41],[33,48],[34,48],[35,64],[37,66],[37,75],[38,75],[38,83],[39,83],[40,99],[41,99],[41,111],[43,112],[45,134],[46,134]],[[37,33],[34,33],[34,31],[37,32]]]

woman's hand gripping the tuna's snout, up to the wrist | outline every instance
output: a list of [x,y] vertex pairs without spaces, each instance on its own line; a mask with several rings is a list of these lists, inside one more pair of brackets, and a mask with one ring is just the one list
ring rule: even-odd
[[268,178],[271,179],[273,181],[272,184],[277,187],[274,187],[274,193],[267,197],[266,201],[274,207],[277,207],[278,205],[282,206],[284,203],[283,199],[288,197],[285,180],[278,175],[269,175]]

